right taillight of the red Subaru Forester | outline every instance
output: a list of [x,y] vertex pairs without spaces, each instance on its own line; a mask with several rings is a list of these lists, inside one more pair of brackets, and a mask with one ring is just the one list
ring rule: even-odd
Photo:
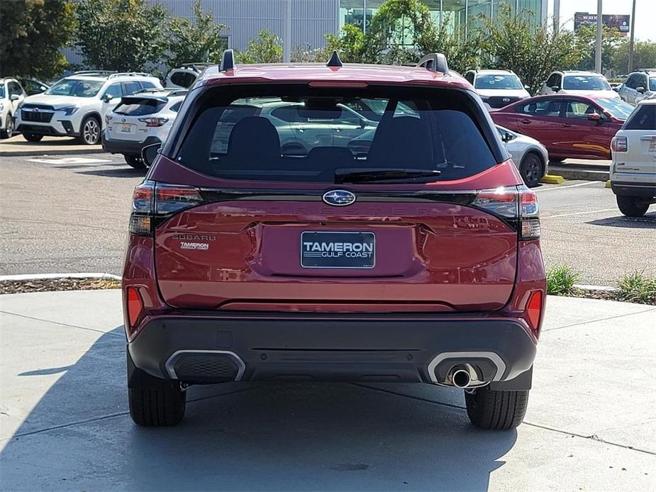
[[524,185],[477,191],[471,205],[504,218],[517,228],[521,240],[540,237],[538,197]]

